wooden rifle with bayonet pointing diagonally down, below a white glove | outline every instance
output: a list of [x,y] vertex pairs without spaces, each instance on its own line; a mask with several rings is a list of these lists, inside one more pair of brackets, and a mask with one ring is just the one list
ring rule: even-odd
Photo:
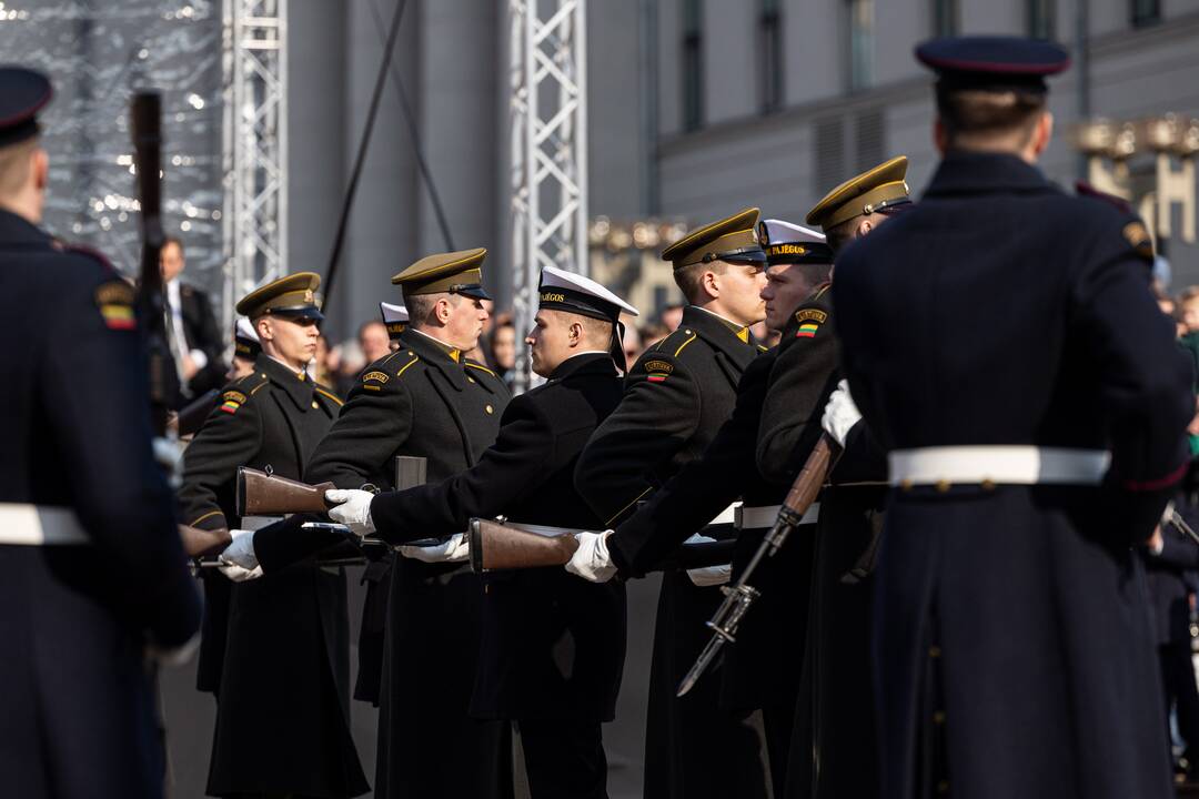
[[773,557],[782,549],[783,544],[787,543],[787,538],[791,534],[791,531],[800,526],[803,514],[815,502],[820,489],[824,486],[825,478],[832,471],[833,462],[836,461],[835,452],[837,452],[836,442],[829,434],[821,435],[820,441],[812,449],[812,454],[808,455],[807,462],[803,464],[803,468],[795,478],[795,483],[791,484],[791,490],[787,494],[787,498],[783,500],[783,506],[778,512],[775,526],[766,533],[766,538],[763,539],[749,564],[735,583],[721,587],[721,591],[724,593],[724,601],[716,609],[716,613],[711,621],[707,622],[707,627],[712,630],[712,638],[704,647],[704,650],[699,653],[699,658],[695,659],[695,664],[687,672],[687,676],[683,677],[682,683],[679,684],[677,696],[682,696],[694,688],[695,683],[707,670],[709,665],[711,665],[712,660],[716,659],[716,655],[725,643],[736,642],[737,625],[741,624],[745,615],[749,612],[749,607],[754,600],[761,595],[761,592],[749,585],[749,579],[753,576],[758,564],[767,557]]

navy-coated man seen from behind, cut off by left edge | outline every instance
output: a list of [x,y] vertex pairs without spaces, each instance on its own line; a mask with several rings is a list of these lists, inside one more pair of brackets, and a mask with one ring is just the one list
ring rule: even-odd
[[200,603],[151,452],[133,289],[38,225],[44,75],[0,67],[0,786],[162,797],[145,658],[180,655]]

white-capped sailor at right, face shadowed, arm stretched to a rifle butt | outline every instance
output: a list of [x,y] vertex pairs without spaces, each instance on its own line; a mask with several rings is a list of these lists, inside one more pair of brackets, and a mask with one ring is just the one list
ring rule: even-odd
[[[763,222],[760,238],[769,259],[767,284],[761,292],[766,299],[766,323],[795,338],[801,325],[811,319],[800,311],[812,307],[815,302],[812,295],[826,286],[832,253],[819,232],[779,219]],[[778,408],[801,424],[811,423],[819,418],[832,389],[835,362],[812,359],[803,347],[788,350],[784,361],[778,359],[779,355],[781,349],[775,347],[751,362],[737,383],[731,417],[704,454],[679,470],[608,537],[611,567],[620,576],[644,576],[721,509],[741,498],[733,558],[733,575],[740,576],[778,517],[779,503],[790,488],[763,479],[758,472],[754,458],[763,413],[767,407]],[[793,379],[771,380],[781,371]],[[801,454],[811,452],[819,437],[819,424],[812,424],[811,429],[815,435],[796,444]],[[808,520],[818,512],[814,507]],[[705,682],[717,683],[723,677],[719,691],[724,708],[740,714],[761,710],[775,795],[783,793],[796,671],[803,660],[812,537],[812,525],[801,525],[776,557],[758,567],[751,583],[761,591],[761,597],[737,630],[736,644],[725,649],[722,670],[704,677]],[[580,571],[577,563],[568,569]],[[584,576],[604,579],[611,574],[609,568]],[[785,634],[779,634],[781,630]],[[698,653],[697,649],[692,658]]]

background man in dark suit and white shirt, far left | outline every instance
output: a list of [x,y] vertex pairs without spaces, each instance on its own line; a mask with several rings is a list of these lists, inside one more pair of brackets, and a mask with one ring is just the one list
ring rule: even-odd
[[167,338],[180,371],[185,399],[199,397],[225,382],[224,340],[212,304],[183,283],[183,242],[167,236],[158,256],[165,286]]

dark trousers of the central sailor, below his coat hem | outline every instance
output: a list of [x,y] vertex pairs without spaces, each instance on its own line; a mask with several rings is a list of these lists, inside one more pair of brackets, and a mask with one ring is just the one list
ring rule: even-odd
[[598,721],[517,722],[532,799],[608,799],[608,758]]

